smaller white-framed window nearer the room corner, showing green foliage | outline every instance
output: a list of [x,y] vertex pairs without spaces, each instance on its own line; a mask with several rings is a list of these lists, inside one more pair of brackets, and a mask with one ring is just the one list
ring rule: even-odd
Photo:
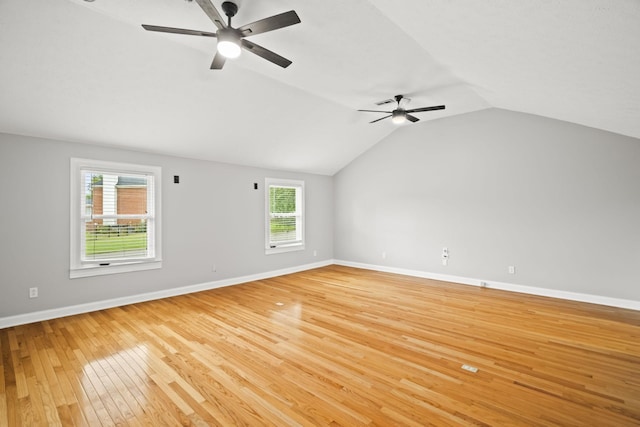
[[304,182],[265,180],[266,253],[304,249]]

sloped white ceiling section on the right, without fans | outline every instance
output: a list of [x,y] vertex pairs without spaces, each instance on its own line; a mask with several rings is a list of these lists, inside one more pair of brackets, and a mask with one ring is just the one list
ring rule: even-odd
[[372,2],[492,107],[640,138],[640,2]]

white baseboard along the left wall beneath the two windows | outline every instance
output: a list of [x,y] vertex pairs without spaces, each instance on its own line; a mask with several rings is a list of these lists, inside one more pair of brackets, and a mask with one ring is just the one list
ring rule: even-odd
[[194,292],[206,291],[209,289],[222,288],[225,286],[238,285],[240,283],[252,282],[254,280],[269,279],[271,277],[285,274],[298,273],[300,271],[311,270],[313,268],[325,267],[333,264],[333,260],[320,261],[312,264],[299,265],[296,267],[283,268],[280,270],[266,271],[264,273],[250,274],[248,276],[233,277],[230,279],[217,280],[213,282],[199,283],[196,285],[183,286],[180,288],[165,289],[157,292],[131,295],[122,298],[113,298],[103,301],[96,301],[87,304],[78,304],[68,307],[54,308],[51,310],[36,311],[33,313],[18,314],[0,318],[0,328],[10,326],[25,325],[27,323],[40,322],[43,320],[57,319],[59,317],[71,316],[73,314],[89,313],[106,308],[120,307],[128,304],[135,304],[144,301],[152,301],[178,295],[191,294]]

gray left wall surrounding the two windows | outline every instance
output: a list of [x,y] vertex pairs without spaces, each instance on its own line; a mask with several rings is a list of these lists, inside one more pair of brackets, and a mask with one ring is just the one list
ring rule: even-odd
[[[162,269],[69,279],[70,157],[162,167]],[[173,184],[173,175],[180,176],[180,184]],[[264,254],[267,176],[305,181],[305,251]],[[0,134],[0,200],[0,317],[333,258],[333,187],[328,176]],[[214,263],[217,272],[212,272]],[[37,299],[28,298],[33,286],[39,288]]]

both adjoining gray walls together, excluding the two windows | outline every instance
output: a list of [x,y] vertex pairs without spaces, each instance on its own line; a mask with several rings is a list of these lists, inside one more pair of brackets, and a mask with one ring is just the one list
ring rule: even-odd
[[[69,279],[70,157],[162,166],[161,270]],[[303,252],[264,255],[267,176],[305,180]],[[498,109],[400,128],[333,178],[0,134],[0,206],[0,317],[333,258],[640,300],[640,141]]]

